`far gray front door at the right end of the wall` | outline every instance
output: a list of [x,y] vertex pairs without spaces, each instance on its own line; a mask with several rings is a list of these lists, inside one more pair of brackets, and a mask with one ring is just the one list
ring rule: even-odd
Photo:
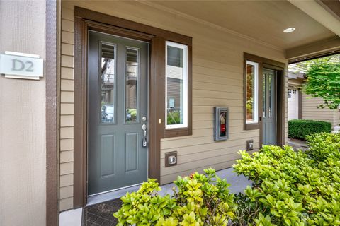
[[263,70],[263,145],[276,145],[276,71]]

